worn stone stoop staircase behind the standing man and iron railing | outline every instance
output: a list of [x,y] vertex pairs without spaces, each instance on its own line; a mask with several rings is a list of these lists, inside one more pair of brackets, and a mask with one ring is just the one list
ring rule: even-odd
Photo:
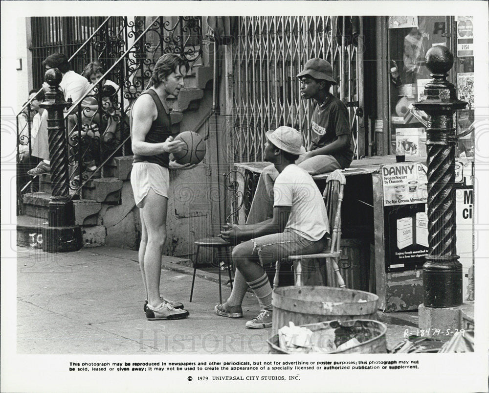
[[[213,46],[213,43],[203,43]],[[190,124],[202,124],[203,113],[209,113],[207,108],[201,108],[204,90],[214,77],[212,50],[207,47],[199,62],[193,65],[192,71],[185,78],[185,87],[178,98],[169,99],[172,123],[174,127],[185,116],[196,118]],[[212,89],[212,87],[210,88]],[[211,90],[212,93],[212,90]],[[208,100],[207,100],[208,101]],[[205,102],[207,102],[205,101]],[[210,108],[209,108],[210,110]],[[199,126],[192,131],[198,132]],[[123,221],[130,213],[137,213],[134,206],[133,193],[130,185],[130,174],[133,156],[115,157],[107,162],[100,179],[87,182],[80,196],[75,195],[73,205],[75,224],[82,228],[84,247],[94,247],[106,244],[110,227]],[[33,248],[42,248],[42,227],[47,227],[48,204],[51,198],[51,177],[42,175],[34,179],[39,185],[39,192],[29,192],[22,195],[21,215],[17,216],[17,244]],[[133,220],[134,224],[135,220]],[[128,231],[137,233],[135,231]],[[132,234],[132,236],[135,236]],[[136,241],[137,239],[132,239]],[[111,244],[121,248],[132,248],[131,244]]]

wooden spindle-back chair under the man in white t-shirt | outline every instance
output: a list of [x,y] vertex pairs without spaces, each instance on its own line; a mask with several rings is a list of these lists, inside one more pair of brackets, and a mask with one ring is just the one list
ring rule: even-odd
[[[335,272],[336,280],[331,277],[328,281],[334,283],[336,281],[340,288],[345,287],[345,281],[339,272],[338,261],[341,254],[341,202],[343,201],[343,190],[346,179],[340,169],[336,169],[326,179],[326,188],[323,192],[323,198],[326,204],[326,212],[328,214],[328,222],[330,231],[333,228],[331,239],[325,247],[323,253],[305,254],[305,255],[289,255],[288,260],[294,263],[295,285],[302,286],[302,260],[303,259],[326,259],[327,264],[331,264]],[[280,271],[280,260],[275,264],[275,277],[273,279],[273,288],[278,286],[278,277]]]

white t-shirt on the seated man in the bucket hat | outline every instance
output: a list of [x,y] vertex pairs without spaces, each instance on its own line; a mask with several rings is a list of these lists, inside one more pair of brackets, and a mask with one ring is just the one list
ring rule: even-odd
[[323,197],[311,175],[297,165],[287,165],[277,176],[273,199],[274,207],[292,207],[286,230],[311,241],[321,239],[330,231]]

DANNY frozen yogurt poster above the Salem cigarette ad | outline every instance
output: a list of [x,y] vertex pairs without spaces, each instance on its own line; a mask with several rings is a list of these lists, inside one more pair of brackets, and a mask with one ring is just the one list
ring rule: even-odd
[[426,203],[426,166],[420,162],[399,162],[380,168],[384,206]]

